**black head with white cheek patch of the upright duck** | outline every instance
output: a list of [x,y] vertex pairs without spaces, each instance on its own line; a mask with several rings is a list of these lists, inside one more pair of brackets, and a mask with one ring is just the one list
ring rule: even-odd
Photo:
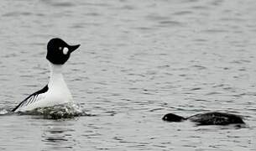
[[46,59],[55,65],[63,65],[69,60],[71,53],[77,49],[80,44],[69,45],[62,39],[50,39],[47,44]]

